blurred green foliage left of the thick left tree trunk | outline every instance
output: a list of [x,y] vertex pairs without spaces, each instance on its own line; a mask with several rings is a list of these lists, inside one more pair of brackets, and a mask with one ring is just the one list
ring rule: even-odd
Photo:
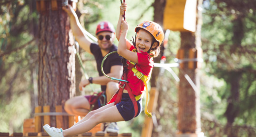
[[[22,132],[30,117],[36,46],[31,32],[32,1],[2,0],[0,6],[0,132]],[[28,16],[29,15],[29,16]]]

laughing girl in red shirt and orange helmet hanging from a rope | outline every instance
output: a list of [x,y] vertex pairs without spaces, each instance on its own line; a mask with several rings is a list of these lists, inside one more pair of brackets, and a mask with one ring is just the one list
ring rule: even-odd
[[142,22],[135,28],[138,36],[135,35],[136,40],[133,42],[133,46],[126,39],[128,23],[123,20],[123,13],[126,9],[127,5],[123,2],[120,6],[116,37],[119,40],[118,54],[128,60],[128,66],[125,66],[127,69],[122,77],[128,82],[120,82],[119,91],[107,105],[91,111],[69,129],[62,130],[44,125],[44,130],[51,137],[72,137],[88,132],[99,123],[128,121],[141,113],[141,94],[145,90],[145,85],[137,75],[134,75],[133,70],[136,69],[142,76],[149,77],[151,75],[154,65],[152,57],[158,55],[164,34],[159,24],[150,21]]

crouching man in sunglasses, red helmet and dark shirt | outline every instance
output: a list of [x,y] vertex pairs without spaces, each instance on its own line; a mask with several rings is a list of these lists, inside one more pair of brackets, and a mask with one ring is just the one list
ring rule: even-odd
[[[90,77],[89,79],[81,80],[79,83],[79,90],[82,91],[82,87],[89,85],[90,83],[101,85],[101,90],[105,91],[106,101],[108,102],[114,93],[118,91],[118,81],[111,80],[104,76],[101,72],[100,66],[101,62],[108,53],[117,50],[117,46],[113,44],[115,38],[115,29],[113,25],[109,22],[101,22],[97,25],[96,36],[98,39],[98,44],[93,43],[88,36],[83,33],[84,28],[82,28],[79,23],[78,17],[73,10],[73,8],[68,5],[63,7],[63,10],[70,17],[70,26],[75,36],[76,41],[79,43],[85,51],[94,55],[97,64],[97,70],[99,73],[98,77]],[[123,67],[121,62],[122,57],[118,54],[111,54],[104,61],[103,70],[110,77],[121,78],[123,73]],[[86,96],[76,96],[66,101],[64,109],[68,114],[85,116],[89,113],[91,105],[89,103],[92,100],[92,95]],[[95,104],[93,110],[101,107]],[[105,104],[104,104],[105,105]],[[102,130],[104,132],[118,132],[118,127],[116,123],[103,123],[104,127]]]

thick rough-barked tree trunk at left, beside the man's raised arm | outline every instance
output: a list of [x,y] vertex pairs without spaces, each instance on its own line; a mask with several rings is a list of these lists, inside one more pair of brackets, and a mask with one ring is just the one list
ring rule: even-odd
[[[50,106],[50,112],[62,105],[64,112],[65,101],[75,95],[73,36],[62,8],[53,11],[51,1],[44,3],[46,10],[39,18],[38,105]],[[68,116],[63,116],[62,123],[63,129],[68,128]],[[56,116],[50,117],[50,124],[56,127]]]

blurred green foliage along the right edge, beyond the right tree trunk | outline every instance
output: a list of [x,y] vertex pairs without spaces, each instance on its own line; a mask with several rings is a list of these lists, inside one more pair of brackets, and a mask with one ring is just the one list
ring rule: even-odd
[[[205,112],[211,112],[215,122],[222,124],[219,126],[227,128],[225,125],[231,123],[237,128],[233,131],[234,133],[240,130],[237,137],[250,137],[250,132],[246,132],[247,129],[242,126],[255,126],[253,121],[256,118],[256,115],[252,113],[256,110],[253,105],[255,104],[253,98],[256,94],[255,2],[253,0],[243,2],[205,0],[204,8],[201,35],[207,73],[203,77],[214,78],[212,84],[217,84],[220,80],[222,84],[210,86],[205,85],[206,81],[201,83],[203,84],[201,100],[203,96],[202,102],[207,105],[202,116],[205,116]],[[234,89],[235,86],[238,89]],[[213,91],[217,94],[204,93]],[[230,109],[231,106],[233,109]],[[228,131],[218,134],[230,136]],[[210,131],[206,131],[206,135],[211,136]]]

